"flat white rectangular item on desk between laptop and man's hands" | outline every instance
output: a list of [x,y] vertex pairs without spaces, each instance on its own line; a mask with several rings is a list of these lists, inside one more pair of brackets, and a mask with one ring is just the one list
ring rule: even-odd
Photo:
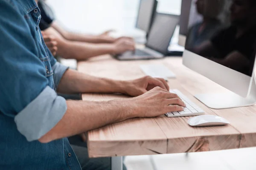
[[176,75],[162,64],[140,65],[141,70],[148,76],[158,78],[175,78]]

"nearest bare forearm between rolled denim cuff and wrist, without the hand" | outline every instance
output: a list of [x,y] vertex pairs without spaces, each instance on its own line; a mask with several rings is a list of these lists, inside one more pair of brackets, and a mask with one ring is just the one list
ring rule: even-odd
[[61,121],[39,141],[47,143],[132,118],[135,114],[134,110],[129,108],[129,100],[67,101],[67,112]]

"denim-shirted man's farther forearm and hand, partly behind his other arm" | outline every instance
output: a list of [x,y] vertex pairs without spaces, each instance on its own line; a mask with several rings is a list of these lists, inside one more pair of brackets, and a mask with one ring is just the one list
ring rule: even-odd
[[169,86],[164,79],[146,76],[130,81],[118,81],[94,77],[69,69],[61,78],[57,91],[64,94],[122,93],[130,96],[139,96],[156,86],[169,90]]

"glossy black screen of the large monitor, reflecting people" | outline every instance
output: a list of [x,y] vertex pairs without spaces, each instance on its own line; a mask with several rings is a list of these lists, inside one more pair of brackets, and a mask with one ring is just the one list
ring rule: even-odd
[[192,0],[191,8],[186,50],[252,76],[256,0]]

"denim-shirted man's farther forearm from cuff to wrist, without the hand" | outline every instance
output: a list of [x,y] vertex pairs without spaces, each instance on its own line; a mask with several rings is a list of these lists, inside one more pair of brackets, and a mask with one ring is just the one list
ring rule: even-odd
[[125,93],[123,81],[93,77],[75,70],[67,70],[58,85],[57,91],[73,93]]

